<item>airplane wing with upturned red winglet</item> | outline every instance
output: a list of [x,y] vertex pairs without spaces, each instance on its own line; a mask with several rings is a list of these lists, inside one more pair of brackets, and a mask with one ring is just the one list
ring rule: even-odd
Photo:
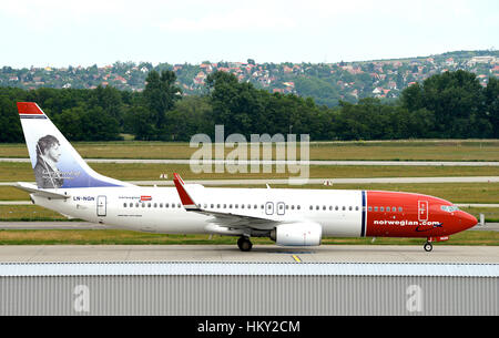
[[179,174],[173,174],[173,183],[181,198],[182,205],[187,212],[198,213],[213,216],[213,224],[230,228],[252,228],[252,229],[273,229],[281,221],[265,217],[255,217],[238,213],[215,212],[203,208],[201,204],[196,204],[192,194],[189,193],[184,181]]

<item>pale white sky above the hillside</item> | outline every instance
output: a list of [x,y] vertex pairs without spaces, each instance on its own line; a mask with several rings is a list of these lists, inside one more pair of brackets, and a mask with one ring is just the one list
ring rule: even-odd
[[499,48],[497,0],[16,0],[0,66],[338,62]]

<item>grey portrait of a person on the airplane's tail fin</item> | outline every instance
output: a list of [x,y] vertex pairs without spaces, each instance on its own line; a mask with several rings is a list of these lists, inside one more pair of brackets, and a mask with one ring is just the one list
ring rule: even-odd
[[34,177],[41,188],[58,188],[64,184],[57,163],[61,157],[60,142],[53,135],[40,137],[37,142],[37,165]]

